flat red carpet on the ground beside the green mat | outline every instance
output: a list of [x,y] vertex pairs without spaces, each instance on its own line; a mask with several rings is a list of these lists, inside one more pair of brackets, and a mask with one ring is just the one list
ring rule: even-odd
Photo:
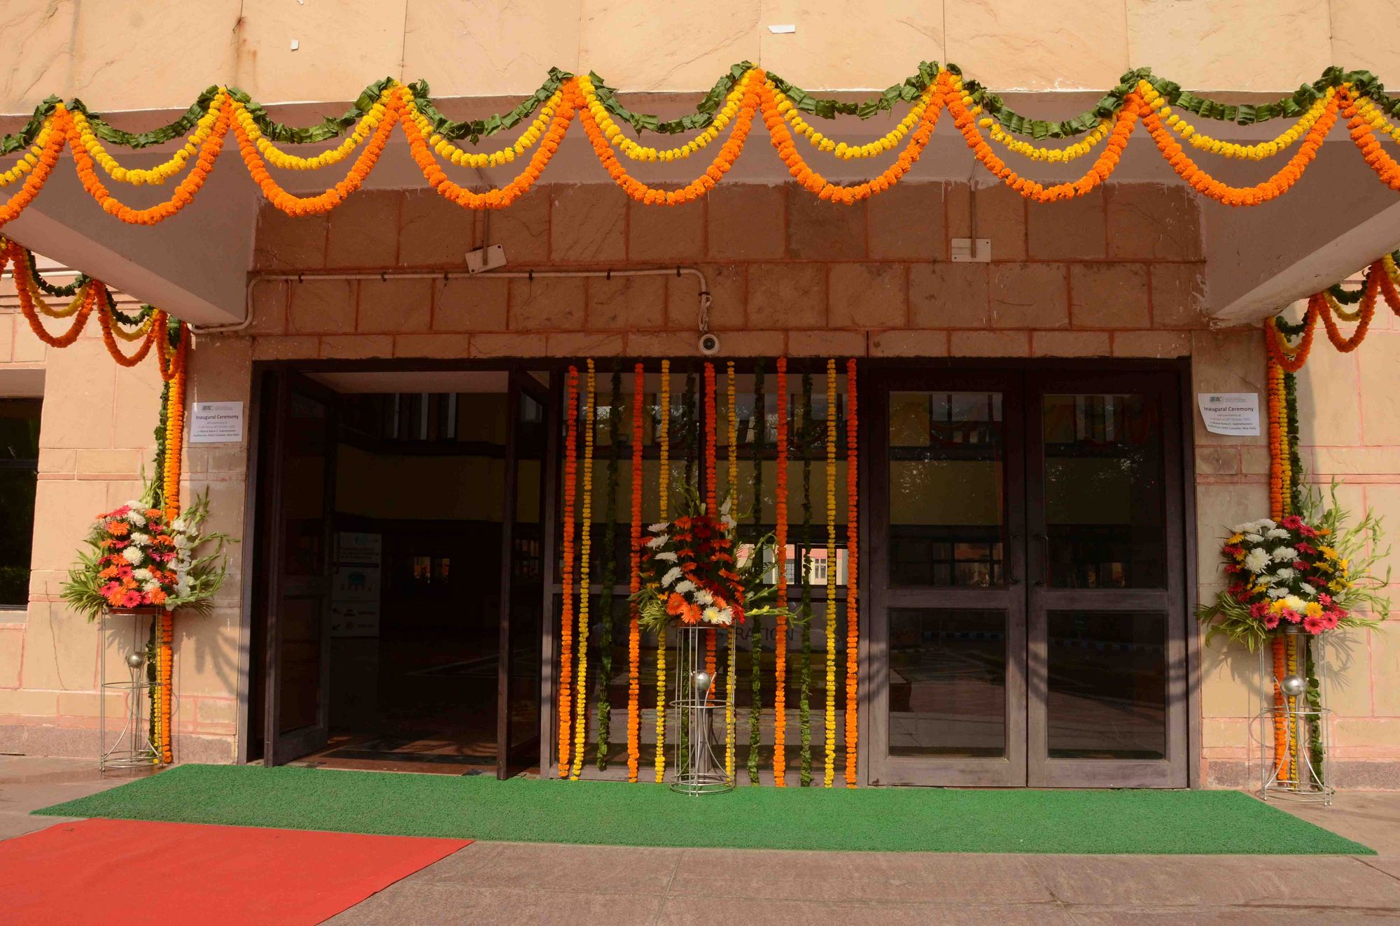
[[60,822],[0,842],[0,923],[319,923],[469,843]]

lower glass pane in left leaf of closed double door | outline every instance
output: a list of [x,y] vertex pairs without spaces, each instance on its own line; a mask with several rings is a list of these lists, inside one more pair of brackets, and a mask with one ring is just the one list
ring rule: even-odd
[[1007,754],[1007,615],[892,608],[889,754]]

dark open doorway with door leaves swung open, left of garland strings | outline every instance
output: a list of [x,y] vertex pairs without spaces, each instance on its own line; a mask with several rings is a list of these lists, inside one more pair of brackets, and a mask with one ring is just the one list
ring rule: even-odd
[[547,372],[266,371],[251,757],[539,760]]

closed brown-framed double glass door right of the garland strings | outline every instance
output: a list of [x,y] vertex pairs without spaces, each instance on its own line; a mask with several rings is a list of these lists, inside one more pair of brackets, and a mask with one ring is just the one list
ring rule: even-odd
[[872,781],[1186,786],[1179,375],[871,379]]

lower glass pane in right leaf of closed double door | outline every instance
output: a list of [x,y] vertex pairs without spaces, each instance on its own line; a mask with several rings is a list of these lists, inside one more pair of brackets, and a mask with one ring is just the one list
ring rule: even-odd
[[1166,758],[1166,615],[1050,611],[1050,758]]

